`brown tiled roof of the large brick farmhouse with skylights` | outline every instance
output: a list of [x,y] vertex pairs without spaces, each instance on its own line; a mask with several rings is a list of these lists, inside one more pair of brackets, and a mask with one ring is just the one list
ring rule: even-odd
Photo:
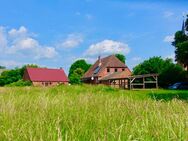
[[91,68],[84,74],[82,78],[100,76],[100,73],[106,68],[127,68],[127,66],[123,62],[121,62],[115,55],[110,55],[108,57],[101,59],[101,66],[99,65],[99,60],[97,60],[95,64],[91,66]]

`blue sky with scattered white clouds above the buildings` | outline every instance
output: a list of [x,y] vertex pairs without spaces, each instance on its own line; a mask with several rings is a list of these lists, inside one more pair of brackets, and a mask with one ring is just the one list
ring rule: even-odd
[[187,12],[186,0],[1,0],[0,65],[68,72],[98,55],[123,53],[131,69],[152,56],[173,58],[170,42]]

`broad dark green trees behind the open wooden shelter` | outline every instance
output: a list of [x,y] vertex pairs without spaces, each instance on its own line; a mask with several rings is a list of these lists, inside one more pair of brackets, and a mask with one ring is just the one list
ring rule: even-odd
[[159,86],[167,87],[178,81],[185,80],[185,71],[179,65],[173,64],[172,60],[163,60],[161,57],[152,57],[133,68],[133,74],[159,74]]

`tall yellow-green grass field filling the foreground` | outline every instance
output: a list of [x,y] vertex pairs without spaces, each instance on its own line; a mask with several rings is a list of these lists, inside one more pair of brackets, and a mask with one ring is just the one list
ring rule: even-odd
[[0,140],[188,140],[188,91],[0,88]]

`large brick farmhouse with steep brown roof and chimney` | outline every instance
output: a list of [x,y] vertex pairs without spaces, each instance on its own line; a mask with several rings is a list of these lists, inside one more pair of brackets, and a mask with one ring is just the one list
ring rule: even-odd
[[115,55],[98,58],[93,66],[84,74],[82,81],[90,84],[109,84],[113,78],[125,78],[132,73],[130,69]]

